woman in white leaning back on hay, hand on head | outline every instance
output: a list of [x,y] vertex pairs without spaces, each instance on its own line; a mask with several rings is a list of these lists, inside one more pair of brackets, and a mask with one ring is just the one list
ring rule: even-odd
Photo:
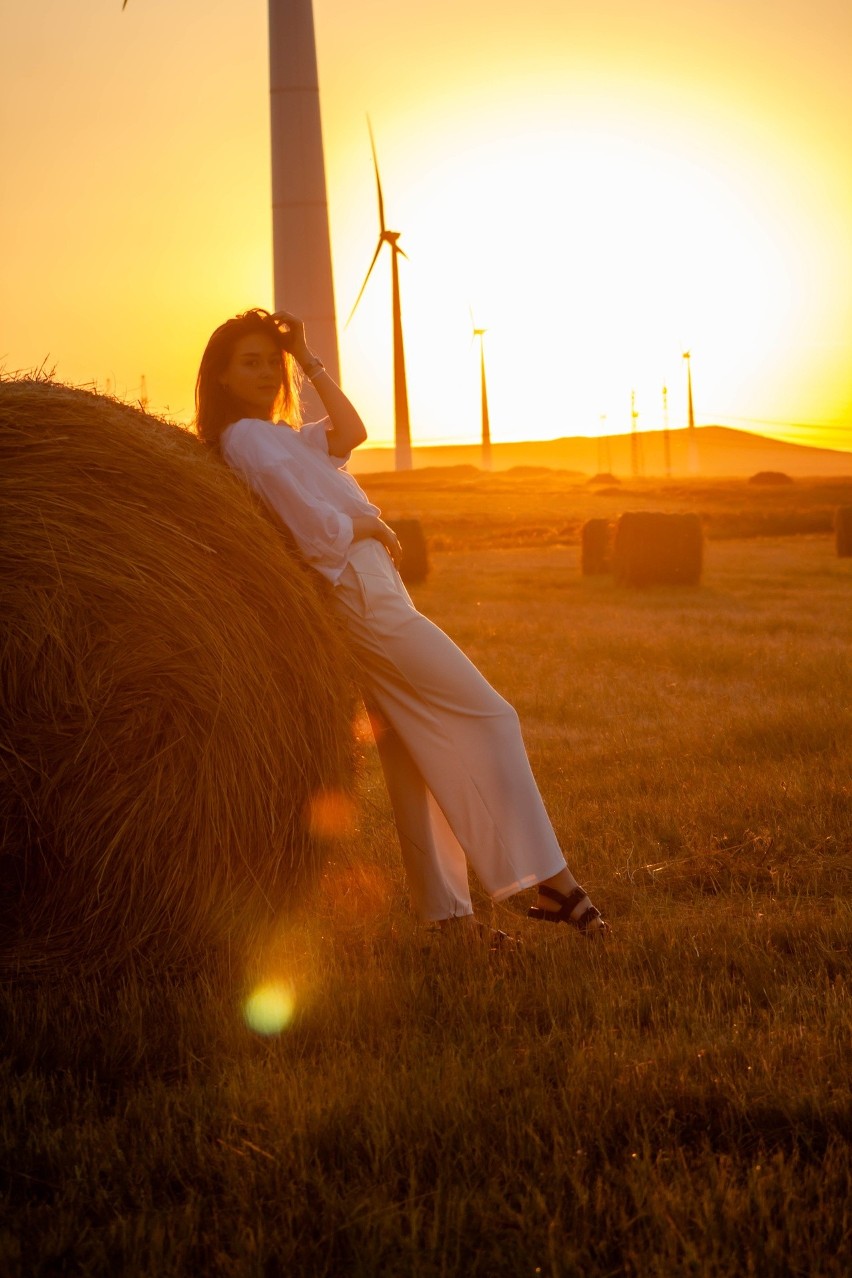
[[[298,369],[328,414],[301,428],[293,424]],[[607,924],[566,866],[517,714],[416,611],[396,571],[393,530],[342,469],[367,431],[308,348],[301,321],[254,309],[217,328],[195,406],[204,443],[247,478],[333,587],[420,918],[479,927],[470,860],[494,900],[538,886],[531,918],[604,934]]]

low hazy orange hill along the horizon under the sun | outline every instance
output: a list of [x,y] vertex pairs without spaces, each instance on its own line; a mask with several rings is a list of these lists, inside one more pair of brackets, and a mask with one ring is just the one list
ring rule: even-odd
[[[805,478],[852,475],[852,452],[788,443],[751,431],[727,426],[700,426],[695,429],[699,454],[697,474],[706,478],[747,478],[759,470],[782,470]],[[669,432],[672,477],[690,474],[688,431]],[[663,431],[641,431],[637,436],[640,475],[666,475]],[[632,437],[609,435],[604,440],[568,436],[561,440],[531,440],[492,443],[492,470],[513,466],[548,466],[580,474],[609,472],[621,478],[632,475]],[[427,445],[414,447],[414,468],[482,466],[482,449],[475,443]],[[599,461],[602,460],[602,464]],[[356,474],[393,470],[392,449],[358,449],[349,464]]]

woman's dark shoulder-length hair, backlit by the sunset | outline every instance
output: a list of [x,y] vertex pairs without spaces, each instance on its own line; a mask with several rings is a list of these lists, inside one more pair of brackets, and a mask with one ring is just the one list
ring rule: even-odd
[[284,349],[284,335],[270,312],[253,307],[220,325],[202,355],[195,381],[195,432],[209,449],[218,450],[222,432],[232,422],[245,417],[244,405],[222,386],[220,378],[231,360],[235,344],[240,337],[255,332],[271,337],[281,351],[282,385],[275,405],[276,415],[291,426],[299,426],[299,366]]

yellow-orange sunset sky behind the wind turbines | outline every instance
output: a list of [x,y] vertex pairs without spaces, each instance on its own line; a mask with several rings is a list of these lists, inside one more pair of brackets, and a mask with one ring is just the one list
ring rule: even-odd
[[[188,422],[272,305],[264,0],[0,0],[0,367]],[[852,0],[314,0],[342,382],[416,443],[686,422],[852,449]],[[308,334],[310,337],[310,334]],[[319,351],[322,354],[322,351]]]

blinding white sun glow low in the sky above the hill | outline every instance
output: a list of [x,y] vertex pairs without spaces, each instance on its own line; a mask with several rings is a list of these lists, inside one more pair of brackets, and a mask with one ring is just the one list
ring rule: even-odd
[[[791,395],[806,413],[783,351],[796,350],[800,380],[805,366],[825,396],[826,351],[807,349],[829,282],[821,245],[789,192],[756,174],[746,153],[718,139],[714,150],[711,138],[650,114],[502,123],[489,141],[414,174],[397,156],[402,175],[384,178],[393,225],[407,227],[415,436],[419,426],[476,437],[469,304],[488,328],[497,438],[595,435],[604,415],[608,431],[626,431],[631,391],[640,427],[659,427],[663,385],[671,423],[683,426],[686,349],[701,420],[761,404],[783,417]],[[369,227],[360,239],[369,245]],[[388,290],[376,279],[370,286],[344,357],[364,396],[377,403],[379,382],[390,405]]]

